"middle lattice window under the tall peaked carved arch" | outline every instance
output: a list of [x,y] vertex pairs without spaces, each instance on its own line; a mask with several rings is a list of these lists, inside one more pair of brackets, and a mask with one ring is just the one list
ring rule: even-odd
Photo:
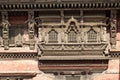
[[71,29],[68,32],[68,42],[77,42],[77,33],[74,31],[74,29]]

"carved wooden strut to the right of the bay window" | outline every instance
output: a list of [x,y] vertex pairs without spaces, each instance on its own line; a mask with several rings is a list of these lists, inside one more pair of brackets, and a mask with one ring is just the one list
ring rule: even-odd
[[110,22],[110,43],[111,48],[116,48],[116,10],[111,10],[111,22]]

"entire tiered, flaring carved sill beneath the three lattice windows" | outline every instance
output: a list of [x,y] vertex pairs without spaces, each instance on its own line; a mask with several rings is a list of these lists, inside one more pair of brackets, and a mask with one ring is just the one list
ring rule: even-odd
[[[90,58],[95,59],[95,57],[105,58],[105,49],[107,47],[107,43],[96,43],[96,44],[39,44],[38,45],[41,53],[39,54],[39,59],[46,59],[55,57],[58,59],[58,56],[67,57],[70,59],[83,59],[84,56],[88,56]],[[49,57],[51,56],[51,57]],[[72,57],[74,56],[74,57]],[[45,58],[46,57],[46,58]],[[62,58],[59,58],[62,59]],[[87,59],[90,59],[88,58]],[[67,59],[67,58],[63,58]],[[85,58],[84,58],[85,59]]]

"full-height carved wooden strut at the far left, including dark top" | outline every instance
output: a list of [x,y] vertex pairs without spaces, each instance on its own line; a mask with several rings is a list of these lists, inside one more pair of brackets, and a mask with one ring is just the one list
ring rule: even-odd
[[4,50],[9,49],[9,22],[8,22],[8,13],[2,12],[2,27],[3,27],[3,45]]

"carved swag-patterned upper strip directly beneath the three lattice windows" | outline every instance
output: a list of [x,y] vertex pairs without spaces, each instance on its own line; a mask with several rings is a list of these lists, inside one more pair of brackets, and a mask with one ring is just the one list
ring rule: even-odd
[[105,50],[107,43],[38,44],[41,50]]

